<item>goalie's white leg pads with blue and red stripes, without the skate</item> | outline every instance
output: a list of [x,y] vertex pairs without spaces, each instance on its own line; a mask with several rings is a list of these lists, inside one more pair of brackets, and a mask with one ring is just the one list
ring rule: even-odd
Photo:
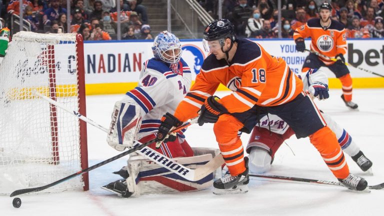
[[[211,154],[175,158],[188,168],[197,168],[211,159]],[[128,171],[128,190],[134,191],[134,195],[194,191],[210,187],[213,183],[213,174],[189,181],[143,156],[131,157],[128,160]]]

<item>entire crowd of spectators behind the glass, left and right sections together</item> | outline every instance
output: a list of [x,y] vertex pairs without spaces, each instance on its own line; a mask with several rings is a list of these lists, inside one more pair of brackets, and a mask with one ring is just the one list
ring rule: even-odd
[[[218,0],[198,0],[217,18]],[[330,1],[330,0],[325,0]],[[152,39],[142,0],[120,0],[121,39]],[[222,16],[231,20],[241,37],[275,38],[278,35],[277,0],[222,0]],[[281,0],[281,36],[290,38],[295,28],[318,17],[324,0]],[[345,25],[347,37],[383,37],[383,0],[331,0],[332,19]],[[23,18],[35,32],[67,32],[66,0],[23,0]],[[70,0],[70,32],[84,40],[116,39],[115,0]],[[19,15],[19,0],[0,1],[0,20],[10,25]]]

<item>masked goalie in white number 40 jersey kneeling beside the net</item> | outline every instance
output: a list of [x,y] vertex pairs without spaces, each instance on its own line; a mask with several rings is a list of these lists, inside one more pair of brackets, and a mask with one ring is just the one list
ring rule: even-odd
[[[116,150],[132,147],[134,140],[143,143],[154,139],[163,113],[173,112],[190,87],[191,71],[181,58],[181,44],[174,34],[160,32],[154,39],[152,52],[154,57],[145,61],[138,86],[114,105],[107,142]],[[177,157],[187,167],[195,168],[212,159],[215,151],[192,149],[184,139],[184,130],[170,135],[158,148],[156,143],[149,147],[169,158]],[[209,187],[213,180],[211,174],[199,181],[188,181],[136,153],[130,154],[127,166],[113,173],[123,179],[102,188],[123,197],[198,190]]]

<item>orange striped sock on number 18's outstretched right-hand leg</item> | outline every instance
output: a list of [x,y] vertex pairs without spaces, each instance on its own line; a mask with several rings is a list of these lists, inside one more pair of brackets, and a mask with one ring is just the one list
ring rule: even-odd
[[346,178],[349,174],[349,167],[337,142],[336,135],[332,130],[328,126],[324,126],[309,135],[309,139],[318,152],[320,152],[321,157],[333,172],[333,175],[340,179]]

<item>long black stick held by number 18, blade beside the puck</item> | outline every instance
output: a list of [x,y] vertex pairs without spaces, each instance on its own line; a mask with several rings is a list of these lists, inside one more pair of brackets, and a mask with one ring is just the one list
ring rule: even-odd
[[[190,122],[186,122],[186,123],[182,124],[181,126],[178,126],[178,127],[174,128],[174,129],[172,129],[171,131],[169,131],[169,133],[177,132],[177,131],[179,131],[179,130],[181,130],[181,129],[187,127],[187,126],[189,126],[190,124],[191,124]],[[168,134],[169,134],[169,133],[168,133]],[[109,159],[106,159],[106,160],[104,160],[104,161],[101,161],[101,162],[99,162],[99,163],[96,163],[96,164],[94,164],[94,165],[92,165],[92,166],[90,166],[90,167],[88,167],[88,168],[79,170],[79,171],[77,171],[77,172],[75,172],[75,173],[73,173],[73,174],[71,174],[71,175],[68,175],[68,176],[66,176],[66,177],[64,177],[64,178],[61,178],[61,179],[59,179],[59,180],[56,180],[56,181],[54,181],[54,182],[52,182],[52,183],[49,183],[49,184],[46,184],[46,185],[44,185],[44,186],[39,186],[39,187],[33,187],[33,188],[25,188],[25,189],[18,189],[18,190],[15,190],[15,191],[13,191],[9,196],[12,197],[12,196],[20,195],[20,194],[24,194],[24,193],[37,192],[37,191],[40,191],[40,190],[44,190],[44,189],[46,189],[46,188],[49,188],[49,187],[54,186],[54,185],[56,185],[56,184],[59,184],[59,183],[61,183],[61,182],[63,182],[63,181],[69,180],[69,179],[71,179],[71,178],[73,178],[73,177],[75,177],[75,176],[77,176],[77,175],[80,175],[80,174],[82,174],[82,173],[88,172],[88,171],[90,171],[90,170],[92,170],[92,169],[95,169],[95,168],[97,168],[97,167],[100,167],[100,166],[102,166],[102,165],[105,165],[105,164],[107,164],[107,163],[109,163],[109,162],[112,162],[113,160],[116,160],[116,159],[118,159],[118,158],[120,158],[120,157],[123,157],[123,156],[125,156],[125,155],[127,155],[127,154],[130,154],[130,153],[132,153],[132,152],[134,152],[134,151],[136,151],[136,150],[140,150],[141,148],[143,148],[143,147],[145,147],[145,146],[148,146],[148,145],[149,145],[150,143],[152,143],[154,140],[155,140],[155,139],[151,139],[151,140],[149,140],[149,141],[147,141],[147,142],[145,142],[145,143],[143,143],[143,144],[139,144],[139,145],[137,145],[137,146],[135,146],[135,147],[133,147],[133,148],[127,150],[127,151],[124,151],[124,152],[122,152],[122,153],[120,153],[120,154],[117,154],[117,155],[115,155],[115,156],[113,156],[113,157],[111,157],[111,158],[109,158]]]

